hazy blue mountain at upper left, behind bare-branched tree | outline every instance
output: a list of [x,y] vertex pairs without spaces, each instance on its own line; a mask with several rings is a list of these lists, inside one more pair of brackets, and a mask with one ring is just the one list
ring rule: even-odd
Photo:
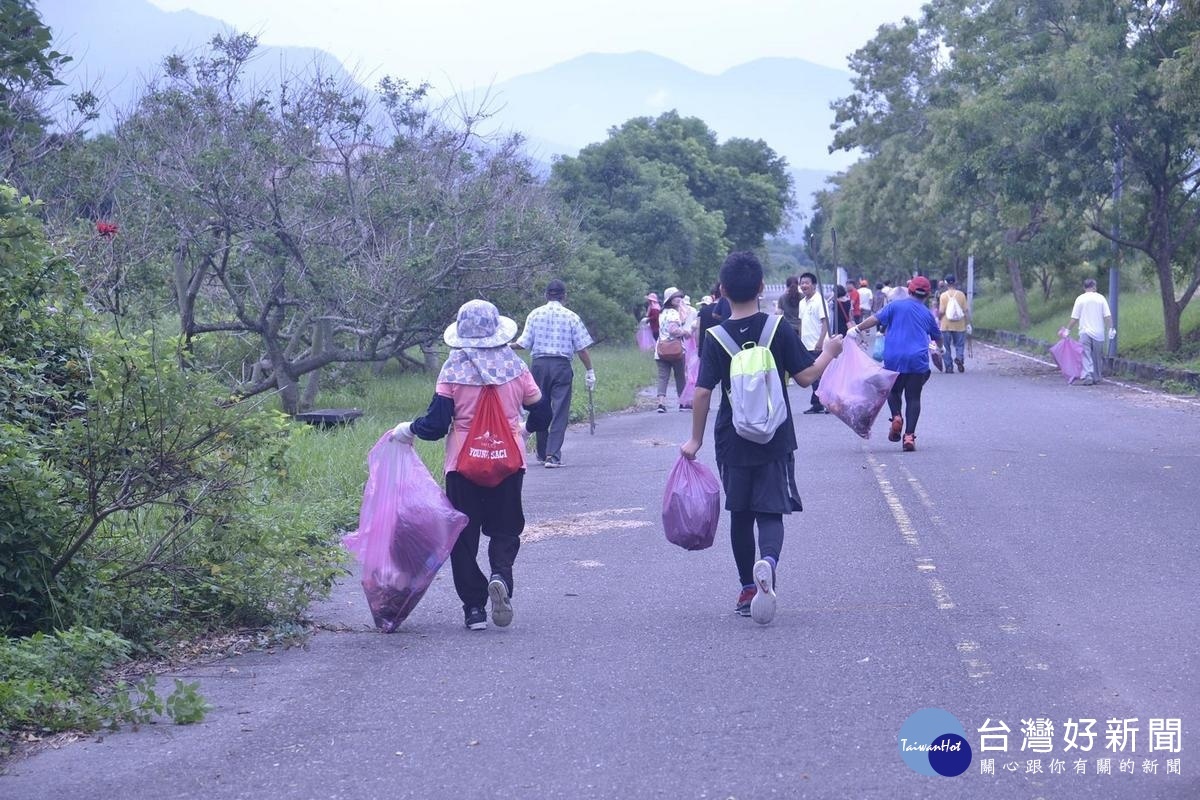
[[[40,0],[42,22],[54,36],[54,48],[74,60],[62,79],[67,91],[92,89],[101,96],[101,116],[92,130],[110,128],[127,112],[146,80],[172,53],[203,49],[214,36],[232,29],[220,19],[191,11],[162,11],[146,0]],[[256,83],[319,70],[338,80],[350,74],[329,53],[306,47],[260,47],[247,66]]]

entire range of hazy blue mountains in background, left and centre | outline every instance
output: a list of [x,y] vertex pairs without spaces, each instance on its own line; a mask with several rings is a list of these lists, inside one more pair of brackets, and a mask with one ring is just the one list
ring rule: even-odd
[[[191,11],[162,11],[148,0],[40,0],[54,47],[74,58],[67,91],[91,88],[104,101],[92,130],[113,126],[170,53],[192,53],[230,28]],[[320,70],[352,80],[323,50],[262,47],[248,67],[254,82]],[[400,76],[403,77],[403,76]],[[653,53],[587,54],[491,88],[463,92],[468,107],[484,102],[498,127],[521,131],[530,155],[546,166],[602,142],[635,116],[676,109],[698,116],[725,139],[762,139],[787,158],[802,211],[824,179],[854,156],[830,155],[829,104],[851,90],[851,74],[800,59],[758,59],[710,76]],[[792,233],[790,237],[798,236]]]

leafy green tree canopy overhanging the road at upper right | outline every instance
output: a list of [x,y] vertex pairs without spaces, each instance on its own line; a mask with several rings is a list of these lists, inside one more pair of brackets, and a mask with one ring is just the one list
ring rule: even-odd
[[866,158],[823,213],[872,269],[1003,263],[1026,321],[1026,285],[1094,269],[1111,239],[1150,264],[1178,349],[1200,287],[1196,32],[1169,0],[929,2],[852,56],[833,142]]

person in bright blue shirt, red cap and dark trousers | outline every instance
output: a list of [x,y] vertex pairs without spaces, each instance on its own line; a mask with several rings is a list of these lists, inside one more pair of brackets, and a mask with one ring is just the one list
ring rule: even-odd
[[[934,312],[925,307],[925,299],[931,290],[929,278],[917,276],[908,282],[907,297],[889,302],[847,331],[848,336],[857,336],[859,331],[869,331],[876,325],[888,329],[883,339],[883,366],[900,373],[888,395],[888,410],[892,411],[888,441],[900,441],[902,429],[901,449],[905,452],[917,449],[920,390],[929,380],[929,343],[938,342],[942,337]],[[900,415],[901,397],[904,416]]]

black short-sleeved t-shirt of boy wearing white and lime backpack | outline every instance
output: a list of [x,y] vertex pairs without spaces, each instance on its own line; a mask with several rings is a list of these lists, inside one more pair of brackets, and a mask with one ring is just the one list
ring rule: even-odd
[[[758,312],[742,319],[727,319],[721,323],[721,327],[738,345],[743,345],[746,342],[757,342],[766,324],[767,314]],[[706,336],[712,337],[712,333],[706,333]],[[770,342],[770,354],[775,357],[779,378],[784,380],[785,386],[787,385],[786,375],[794,375],[812,365],[812,356],[804,349],[804,345],[800,344],[800,337],[786,321],[781,321],[775,330],[775,338]],[[733,409],[730,405],[730,354],[725,351],[721,343],[715,338],[709,338],[700,359],[700,374],[696,377],[696,385],[703,389],[712,391],[716,389],[718,384],[721,385],[721,404],[716,410],[716,422],[713,425],[713,441],[716,447],[718,463],[732,467],[754,467],[787,456],[796,450],[792,401],[787,396],[787,391],[784,391],[784,401],[787,403],[787,420],[779,426],[770,441],[760,445],[743,439],[733,429]]]

